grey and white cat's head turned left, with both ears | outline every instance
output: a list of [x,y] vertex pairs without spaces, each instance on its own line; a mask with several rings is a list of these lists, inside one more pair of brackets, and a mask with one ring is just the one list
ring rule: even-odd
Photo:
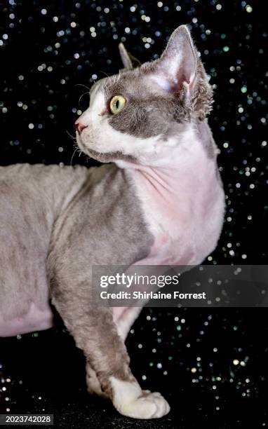
[[209,113],[208,76],[185,25],[155,61],[133,67],[122,44],[119,50],[125,68],[92,86],[90,106],[76,121],[77,143],[98,161],[155,165]]

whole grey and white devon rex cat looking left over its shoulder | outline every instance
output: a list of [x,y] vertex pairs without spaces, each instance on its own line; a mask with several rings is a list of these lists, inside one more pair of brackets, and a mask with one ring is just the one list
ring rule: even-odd
[[[142,390],[124,345],[137,308],[95,308],[91,267],[200,264],[222,229],[224,192],[206,115],[212,90],[186,26],[158,60],[91,88],[79,148],[100,168],[0,168],[0,336],[53,326],[49,300],[86,355],[88,390],[126,416],[168,413]],[[110,163],[112,162],[112,163]]]

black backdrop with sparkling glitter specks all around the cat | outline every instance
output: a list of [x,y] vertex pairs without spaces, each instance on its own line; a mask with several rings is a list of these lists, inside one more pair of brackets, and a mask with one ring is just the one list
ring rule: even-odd
[[[157,57],[192,27],[215,89],[210,125],[227,214],[211,264],[265,264],[267,28],[264,1],[1,1],[1,165],[92,163],[74,153],[85,86],[121,68],[118,43]],[[266,222],[265,222],[266,221]],[[267,240],[266,240],[267,241]],[[265,244],[264,244],[265,243]],[[268,322],[261,309],[142,311],[128,336],[135,375],[172,411],[123,418],[86,393],[83,355],[62,327],[0,340],[0,407],[55,414],[57,428],[254,428],[268,425]],[[246,422],[246,423],[245,423]]]

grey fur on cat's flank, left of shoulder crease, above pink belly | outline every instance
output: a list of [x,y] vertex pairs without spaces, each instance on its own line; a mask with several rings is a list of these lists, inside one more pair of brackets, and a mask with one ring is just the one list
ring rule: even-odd
[[[71,173],[72,171],[72,173]],[[71,173],[71,174],[70,174]],[[46,304],[46,257],[55,219],[86,180],[86,168],[11,165],[0,168],[0,315]]]

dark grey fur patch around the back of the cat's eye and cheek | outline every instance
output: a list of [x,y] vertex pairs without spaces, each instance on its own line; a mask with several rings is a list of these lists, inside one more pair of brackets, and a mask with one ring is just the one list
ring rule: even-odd
[[165,134],[176,123],[186,121],[185,110],[166,94],[156,83],[148,86],[140,69],[123,71],[120,80],[107,79],[105,97],[126,97],[126,107],[117,115],[111,115],[109,124],[116,130],[135,137],[147,138]]

